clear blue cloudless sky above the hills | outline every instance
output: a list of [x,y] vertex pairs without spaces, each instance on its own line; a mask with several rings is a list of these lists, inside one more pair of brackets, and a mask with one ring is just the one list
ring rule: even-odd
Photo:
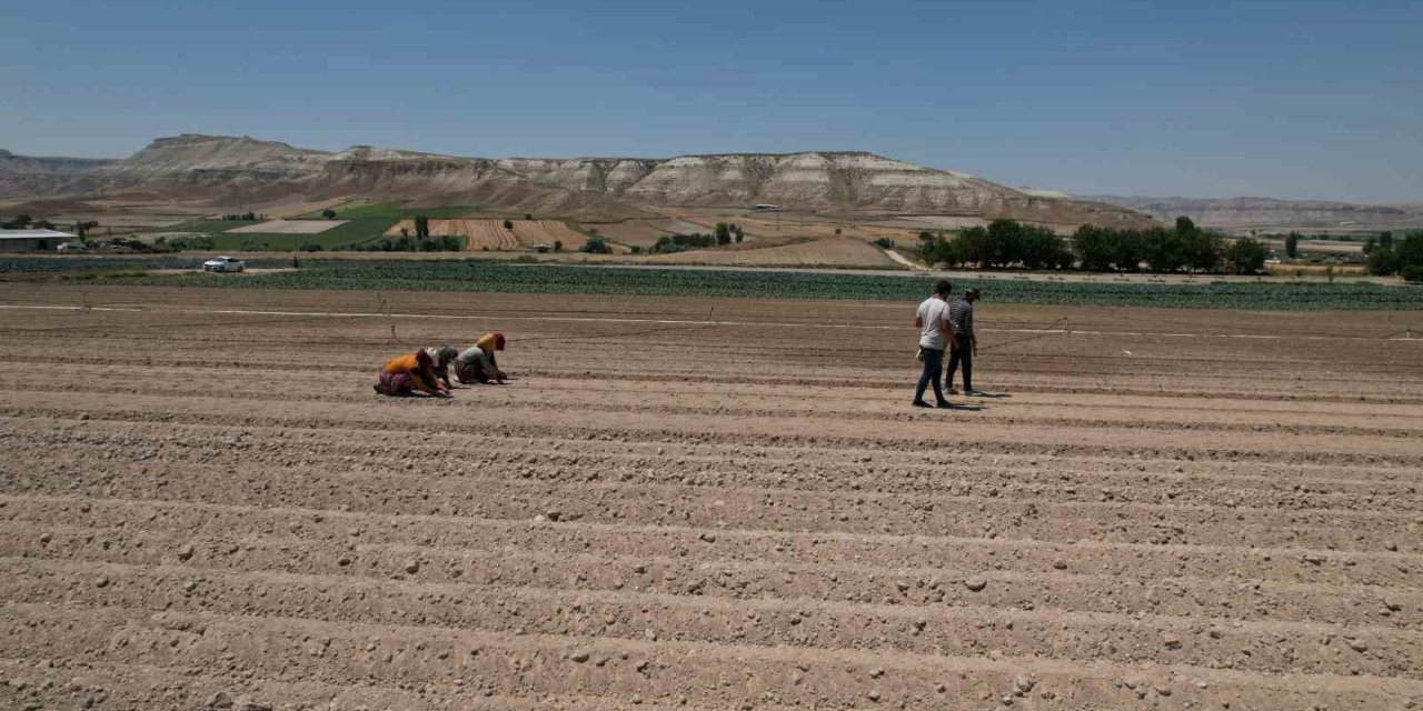
[[1423,202],[1423,1],[3,0],[0,148],[864,149],[1074,193]]

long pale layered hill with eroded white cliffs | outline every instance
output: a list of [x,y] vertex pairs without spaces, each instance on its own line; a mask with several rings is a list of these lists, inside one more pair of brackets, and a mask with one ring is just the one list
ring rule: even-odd
[[1062,225],[1148,222],[1114,205],[1030,195],[961,172],[865,152],[492,159],[374,146],[327,152],[246,137],[188,134],[159,138],[114,161],[0,154],[0,196],[124,193],[211,205],[295,198],[480,203],[582,218],[773,203],[830,213],[963,215]]

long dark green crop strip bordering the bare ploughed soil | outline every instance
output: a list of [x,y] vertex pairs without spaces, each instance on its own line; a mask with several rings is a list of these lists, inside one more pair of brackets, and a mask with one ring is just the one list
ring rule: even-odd
[[[810,272],[619,269],[498,262],[309,259],[300,272],[240,280],[168,277],[161,283],[235,289],[380,289],[416,292],[653,294],[704,297],[847,299],[914,301],[931,277]],[[114,283],[124,283],[122,279]],[[138,283],[138,282],[135,282]],[[142,283],[154,284],[152,279]],[[956,280],[999,303],[1144,306],[1242,310],[1423,310],[1423,287],[1369,283],[1232,282],[1214,284]]]

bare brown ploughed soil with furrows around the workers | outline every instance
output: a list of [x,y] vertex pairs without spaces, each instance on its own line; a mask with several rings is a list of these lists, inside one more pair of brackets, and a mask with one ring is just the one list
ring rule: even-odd
[[0,708],[1423,702],[1416,314],[983,304],[918,411],[912,304],[0,306]]

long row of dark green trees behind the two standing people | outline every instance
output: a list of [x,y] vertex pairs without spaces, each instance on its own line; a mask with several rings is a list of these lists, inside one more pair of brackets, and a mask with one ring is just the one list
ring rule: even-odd
[[1077,228],[1064,242],[1053,230],[1016,220],[956,230],[952,237],[919,233],[919,259],[928,264],[979,269],[1072,269],[1087,272],[1220,272],[1258,273],[1269,247],[1255,239],[1229,245],[1218,232],[1200,229],[1190,218],[1175,228]]

